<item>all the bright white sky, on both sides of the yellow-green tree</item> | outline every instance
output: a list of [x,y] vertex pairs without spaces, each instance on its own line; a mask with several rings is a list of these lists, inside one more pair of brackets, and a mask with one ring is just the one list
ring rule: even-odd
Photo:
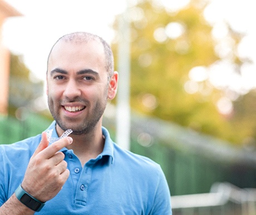
[[[32,77],[35,81],[45,80],[48,52],[63,34],[88,31],[100,35],[111,43],[114,37],[111,24],[115,16],[122,13],[127,4],[136,3],[136,0],[5,1],[23,16],[6,20],[2,32],[3,42],[14,54],[23,56],[24,63],[35,75]],[[158,2],[163,3],[169,10],[175,11],[186,6],[189,0],[158,0]],[[235,52],[241,58],[252,60],[252,64],[244,65],[242,76],[236,75],[235,68],[232,68],[226,60],[207,68],[208,78],[217,88],[229,85],[232,89],[240,90],[240,93],[246,93],[248,89],[256,86],[256,40],[254,39],[256,33],[253,23],[256,13],[253,1],[211,0],[211,4],[205,9],[204,16],[214,27],[213,37],[218,42],[216,52],[220,56],[228,59],[229,54]],[[225,23],[229,23],[233,29],[245,35],[238,50],[231,48],[232,40],[227,38]],[[194,69],[190,77],[192,79],[194,77],[195,80],[202,79],[205,76],[204,69]]]

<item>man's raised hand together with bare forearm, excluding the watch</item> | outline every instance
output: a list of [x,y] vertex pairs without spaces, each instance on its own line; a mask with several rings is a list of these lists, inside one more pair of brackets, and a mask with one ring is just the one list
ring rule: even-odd
[[[43,132],[42,141],[38,145],[36,151],[31,157],[26,173],[22,181],[23,191],[18,191],[18,198],[20,194],[26,193],[26,198],[33,198],[34,201],[41,203],[46,202],[60,192],[62,186],[67,181],[70,171],[67,169],[67,162],[64,160],[65,155],[60,152],[63,147],[72,144],[72,138],[65,137],[56,141],[51,146],[48,146],[46,132]],[[57,174],[56,174],[57,173]],[[42,186],[43,185],[43,186]],[[17,191],[17,190],[16,190]],[[1,207],[1,215],[31,215],[41,207],[35,206],[33,201],[26,201],[21,199],[22,202],[16,197],[14,193]],[[23,196],[22,196],[23,197]],[[35,199],[36,198],[36,199]],[[25,204],[28,206],[25,206]],[[31,206],[31,207],[30,207]],[[35,208],[33,211],[30,208]]]

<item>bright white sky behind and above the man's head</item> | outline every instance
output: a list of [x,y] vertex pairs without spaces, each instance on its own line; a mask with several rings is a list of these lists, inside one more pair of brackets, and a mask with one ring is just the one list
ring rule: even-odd
[[111,23],[125,8],[124,1],[116,0],[5,1],[23,16],[6,19],[3,42],[14,54],[22,55],[33,74],[43,80],[48,53],[58,38],[66,33],[88,31],[111,42]]

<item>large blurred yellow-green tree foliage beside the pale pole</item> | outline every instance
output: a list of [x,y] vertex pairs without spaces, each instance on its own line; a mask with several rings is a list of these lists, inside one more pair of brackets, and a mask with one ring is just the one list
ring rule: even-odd
[[[192,68],[210,66],[219,60],[214,52],[212,27],[203,16],[203,2],[191,1],[179,12],[168,12],[149,0],[130,8],[131,107],[240,143],[243,136],[234,137],[235,126],[216,108],[223,91],[214,88],[209,80],[199,81],[196,93],[185,90]],[[114,28],[118,29],[117,22]],[[116,35],[112,44],[115,57],[118,32]]]

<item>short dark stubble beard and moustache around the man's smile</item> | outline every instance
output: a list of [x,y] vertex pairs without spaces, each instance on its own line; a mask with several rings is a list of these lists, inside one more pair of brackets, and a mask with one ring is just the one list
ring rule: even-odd
[[[87,100],[77,98],[72,101],[61,100],[61,101],[59,101],[58,107],[62,107],[61,104],[72,103],[72,102],[86,104],[85,109],[88,108],[87,104],[89,104]],[[55,110],[53,101],[48,98],[48,106],[49,106],[49,109],[53,116],[53,119],[55,119],[56,123],[58,124],[58,126],[61,127],[61,129],[63,131],[66,131],[67,129],[72,129],[73,134],[88,134],[88,133],[90,133],[95,128],[95,126],[98,124],[98,122],[100,121],[102,115],[104,114],[106,105],[107,105],[107,99],[101,100],[101,101],[99,101],[99,100],[96,101],[95,106],[91,107],[92,112],[87,111],[88,114],[86,115],[86,117],[84,119],[82,119],[80,122],[77,122],[77,119],[72,118],[72,117],[65,117],[65,116],[61,117],[60,111],[57,111],[58,108],[56,108],[56,110]]]

